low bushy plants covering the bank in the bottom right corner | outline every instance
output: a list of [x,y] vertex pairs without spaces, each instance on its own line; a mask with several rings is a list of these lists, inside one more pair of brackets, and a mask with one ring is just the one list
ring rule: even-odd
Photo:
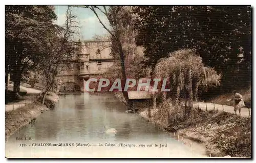
[[[216,151],[216,149],[221,152],[215,153],[219,156],[251,157],[250,118],[238,117],[237,115],[224,111],[203,111],[201,109],[196,109],[195,111],[197,113],[196,118],[189,118],[180,123],[170,123],[170,126],[178,125],[184,127],[185,132],[189,136],[205,143],[206,148],[210,149],[211,152]],[[170,120],[172,122],[174,118],[170,118],[172,118]],[[233,124],[236,124],[236,126],[232,127]],[[228,129],[229,127],[232,128]],[[222,132],[216,133],[218,131]]]

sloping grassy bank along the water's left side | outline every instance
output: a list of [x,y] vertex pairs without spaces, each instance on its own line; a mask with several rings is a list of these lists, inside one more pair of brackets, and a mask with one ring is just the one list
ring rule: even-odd
[[36,119],[41,113],[54,109],[58,100],[57,95],[51,95],[46,98],[45,105],[35,101],[24,107],[5,112],[5,140],[18,131],[23,126]]

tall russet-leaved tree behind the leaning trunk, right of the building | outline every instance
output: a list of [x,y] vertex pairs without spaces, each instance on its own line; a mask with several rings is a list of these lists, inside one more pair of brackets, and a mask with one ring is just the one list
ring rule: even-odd
[[[125,57],[125,74],[127,78],[139,79],[149,75],[149,68],[143,67],[143,48],[136,45],[137,31],[134,29],[134,14],[132,6],[123,6],[119,13],[117,24],[120,31],[120,40]],[[111,48],[111,47],[110,47]],[[115,58],[115,63],[105,73],[106,77],[113,79],[121,78],[120,55],[112,48],[111,55]],[[116,73],[120,72],[120,73]]]

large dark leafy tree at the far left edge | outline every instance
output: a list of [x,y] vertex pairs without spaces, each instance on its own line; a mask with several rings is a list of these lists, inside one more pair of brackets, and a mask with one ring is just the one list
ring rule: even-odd
[[5,69],[6,75],[12,75],[13,91],[18,92],[22,76],[34,67],[38,56],[44,52],[42,42],[57,17],[52,6],[8,5],[5,11]]

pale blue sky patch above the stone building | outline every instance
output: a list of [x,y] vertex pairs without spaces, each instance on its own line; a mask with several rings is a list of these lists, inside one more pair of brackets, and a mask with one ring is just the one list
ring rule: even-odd
[[[55,14],[57,15],[57,25],[61,26],[66,20],[66,10],[68,6],[55,6]],[[87,8],[72,8],[72,13],[77,16],[80,26],[80,40],[93,39],[95,35],[106,35],[106,31],[100,24],[98,18],[93,11]],[[103,13],[98,12],[101,21],[109,27],[109,21]]]

